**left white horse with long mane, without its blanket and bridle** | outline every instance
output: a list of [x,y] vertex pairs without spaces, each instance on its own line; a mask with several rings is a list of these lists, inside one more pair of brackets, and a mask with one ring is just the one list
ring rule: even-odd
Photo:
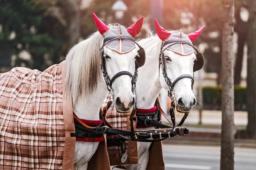
[[[73,46],[66,58],[67,89],[65,90],[67,94],[72,96],[73,112],[80,119],[87,120],[100,119],[99,110],[105,96],[108,94],[100,67],[101,54],[99,49],[102,47],[103,39],[120,34],[130,37],[135,36],[140,32],[143,23],[142,17],[126,30],[125,27],[119,25],[106,26],[95,14],[93,14],[93,17],[99,32],[96,31],[86,40]],[[104,47],[105,68],[108,76],[112,78],[120,71],[134,73],[135,57],[138,55],[134,43],[127,42],[128,46],[119,44],[119,40],[111,42],[116,46],[111,46],[113,44],[110,43]],[[117,43],[115,44],[115,42]],[[111,87],[113,100],[118,111],[121,113],[130,111],[134,106],[131,77],[128,75],[119,76],[113,81]],[[98,145],[99,142],[76,141],[74,164],[77,165],[77,170],[87,169],[88,161],[96,152]]]

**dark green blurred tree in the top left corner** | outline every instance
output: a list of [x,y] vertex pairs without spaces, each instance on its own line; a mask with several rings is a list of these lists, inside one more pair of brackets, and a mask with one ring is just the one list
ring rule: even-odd
[[[51,37],[42,28],[43,12],[31,0],[0,0],[0,44],[15,54],[16,64],[44,70],[52,58],[61,55],[63,42]],[[32,62],[20,57],[21,51],[31,54]]]

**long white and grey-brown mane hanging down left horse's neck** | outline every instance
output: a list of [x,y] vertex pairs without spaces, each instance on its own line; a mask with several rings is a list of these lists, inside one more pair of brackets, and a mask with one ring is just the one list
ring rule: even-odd
[[[79,96],[89,96],[97,88],[101,79],[101,58],[99,49],[103,38],[99,31],[91,34],[86,40],[74,45],[67,54],[67,96],[72,94],[76,102]],[[73,103],[74,104],[74,103]]]

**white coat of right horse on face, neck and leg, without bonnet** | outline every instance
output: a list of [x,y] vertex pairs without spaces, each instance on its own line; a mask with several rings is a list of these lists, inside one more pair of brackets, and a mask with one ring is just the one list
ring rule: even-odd
[[[153,108],[161,89],[165,88],[169,90],[163,79],[162,69],[160,68],[159,70],[158,66],[161,42],[162,41],[159,40],[157,36],[148,37],[139,41],[140,45],[145,49],[146,62],[145,65],[138,70],[138,80],[136,84],[138,108]],[[168,50],[164,51],[164,54],[172,60],[171,62],[166,61],[166,72],[172,82],[182,74],[193,75],[195,54],[181,56]],[[195,98],[191,89],[191,79],[189,78],[180,79],[175,85],[174,92],[177,100],[182,97],[185,106],[189,105]],[[154,127],[149,127],[148,129],[154,129]],[[150,142],[137,142],[138,164],[125,165],[127,170],[146,169],[149,159],[150,145]]]

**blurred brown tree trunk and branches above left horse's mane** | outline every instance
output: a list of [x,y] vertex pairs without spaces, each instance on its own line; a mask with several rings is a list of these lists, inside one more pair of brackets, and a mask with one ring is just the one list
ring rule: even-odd
[[45,31],[53,31],[52,35],[56,31],[61,33],[65,51],[79,41],[81,0],[33,0],[33,3],[44,11]]

